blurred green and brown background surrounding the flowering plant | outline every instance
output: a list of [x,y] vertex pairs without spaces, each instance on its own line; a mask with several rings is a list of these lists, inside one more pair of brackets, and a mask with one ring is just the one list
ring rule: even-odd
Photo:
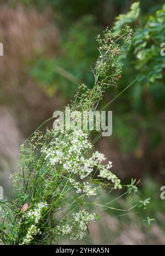
[[[9,195],[9,173],[17,171],[20,143],[55,110],[73,99],[82,82],[92,87],[90,67],[97,59],[96,35],[109,26],[129,23],[133,44],[122,58],[118,87],[106,91],[102,105],[136,77],[139,79],[108,106],[113,111],[113,134],[101,137],[96,148],[113,162],[113,172],[130,183],[140,180],[141,198],[151,198],[145,214],[105,218],[91,225],[96,244],[165,244],[165,42],[164,1],[140,1],[130,12],[130,0],[0,1],[0,185]],[[129,14],[127,15],[127,13]],[[116,22],[119,14],[125,14]],[[137,14],[137,15],[136,15]],[[107,194],[108,196],[111,195]],[[137,196],[120,199],[129,209]],[[103,199],[104,200],[104,199]],[[90,243],[86,241],[85,243]],[[62,241],[62,243],[71,243]]]

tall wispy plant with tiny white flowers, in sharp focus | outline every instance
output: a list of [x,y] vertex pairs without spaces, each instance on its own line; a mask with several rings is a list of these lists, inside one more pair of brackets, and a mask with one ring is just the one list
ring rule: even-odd
[[[128,46],[131,29],[121,35],[106,29],[103,39],[97,36],[99,56],[94,69],[94,87],[79,86],[72,110],[94,111],[105,89],[121,77],[124,54],[120,40]],[[90,131],[81,129],[46,130],[40,127],[20,147],[19,172],[11,175],[17,190],[10,201],[1,201],[0,237],[4,244],[52,244],[64,235],[83,239],[87,223],[100,218],[88,205],[99,206],[102,188],[122,189],[111,172],[112,162],[96,151]],[[130,187],[128,192],[130,192]],[[108,202],[106,204],[108,207]]]

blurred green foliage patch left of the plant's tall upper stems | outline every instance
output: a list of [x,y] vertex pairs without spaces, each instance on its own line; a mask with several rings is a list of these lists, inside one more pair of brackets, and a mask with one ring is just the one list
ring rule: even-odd
[[[94,78],[87,68],[90,68],[96,60],[95,37],[100,30],[91,15],[78,20],[62,35],[56,58],[52,60],[52,58],[37,57],[33,61],[30,71],[32,78],[37,79],[51,94],[56,92],[60,84],[62,93],[68,99],[73,97],[80,82],[92,85]],[[94,42],[92,47],[91,41]],[[59,71],[59,67],[63,72]]]

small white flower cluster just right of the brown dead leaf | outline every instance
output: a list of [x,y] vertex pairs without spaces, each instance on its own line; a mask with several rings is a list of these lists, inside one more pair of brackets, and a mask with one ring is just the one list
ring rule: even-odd
[[40,202],[36,205],[34,210],[27,212],[26,216],[38,223],[41,220],[41,212],[43,209],[47,208],[47,202]]

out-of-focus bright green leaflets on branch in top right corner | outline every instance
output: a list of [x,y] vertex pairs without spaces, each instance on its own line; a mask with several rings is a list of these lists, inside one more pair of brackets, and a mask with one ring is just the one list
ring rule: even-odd
[[122,28],[124,24],[136,22],[137,28],[133,36],[134,64],[140,72],[139,82],[150,85],[156,82],[156,79],[163,78],[165,59],[160,54],[160,44],[165,40],[165,4],[142,25],[138,20],[139,10],[135,4],[131,7],[138,15],[135,15],[133,10],[132,13],[129,12],[129,19],[125,18],[127,15],[119,15],[114,30]]

